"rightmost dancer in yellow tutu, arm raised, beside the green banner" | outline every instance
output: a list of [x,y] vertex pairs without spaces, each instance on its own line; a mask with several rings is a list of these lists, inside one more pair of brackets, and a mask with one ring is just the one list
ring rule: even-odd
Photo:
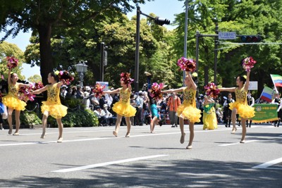
[[255,116],[255,108],[247,105],[247,90],[249,88],[250,82],[250,70],[247,71],[247,77],[238,76],[236,79],[236,85],[238,87],[231,87],[231,88],[219,88],[221,92],[235,92],[236,101],[230,104],[230,109],[232,111],[232,134],[235,133],[237,130],[235,125],[236,114],[240,115],[242,119],[242,138],[240,143],[245,143],[245,136],[246,136],[246,120],[250,119]]

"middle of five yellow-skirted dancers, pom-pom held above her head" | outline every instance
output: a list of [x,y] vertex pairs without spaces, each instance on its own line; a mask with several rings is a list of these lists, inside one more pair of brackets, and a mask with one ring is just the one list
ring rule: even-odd
[[[129,73],[121,74],[121,88],[115,89],[113,91],[103,92],[104,94],[117,94],[119,93],[120,100],[116,102],[113,106],[113,111],[116,112],[116,129],[113,134],[115,137],[118,137],[118,130],[121,125],[121,118],[125,117],[127,132],[125,137],[130,137],[130,117],[133,117],[136,113],[136,109],[130,105],[130,94],[131,94],[131,85],[127,80],[130,79]],[[125,79],[126,78],[126,79]]]

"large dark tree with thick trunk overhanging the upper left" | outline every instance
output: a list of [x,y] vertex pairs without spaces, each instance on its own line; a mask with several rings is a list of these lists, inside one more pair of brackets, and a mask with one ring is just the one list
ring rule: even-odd
[[[133,0],[133,3],[143,4],[145,0]],[[82,27],[90,20],[99,22],[105,15],[114,18],[132,8],[129,0],[6,1],[0,9],[1,31],[6,32],[2,40],[8,35],[16,36],[20,30],[37,32],[40,72],[44,84],[47,84],[48,73],[56,67],[52,58],[51,38],[64,35],[66,29]]]

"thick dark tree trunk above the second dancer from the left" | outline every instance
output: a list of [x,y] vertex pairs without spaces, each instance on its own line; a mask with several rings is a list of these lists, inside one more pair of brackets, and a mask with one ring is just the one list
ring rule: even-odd
[[48,84],[48,74],[54,70],[51,54],[51,25],[39,25],[40,74],[44,85]]

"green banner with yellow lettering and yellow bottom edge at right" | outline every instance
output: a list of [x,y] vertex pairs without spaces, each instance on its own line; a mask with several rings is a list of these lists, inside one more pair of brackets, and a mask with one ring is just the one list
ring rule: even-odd
[[265,123],[278,120],[276,104],[255,104],[255,117],[252,118],[253,123]]

